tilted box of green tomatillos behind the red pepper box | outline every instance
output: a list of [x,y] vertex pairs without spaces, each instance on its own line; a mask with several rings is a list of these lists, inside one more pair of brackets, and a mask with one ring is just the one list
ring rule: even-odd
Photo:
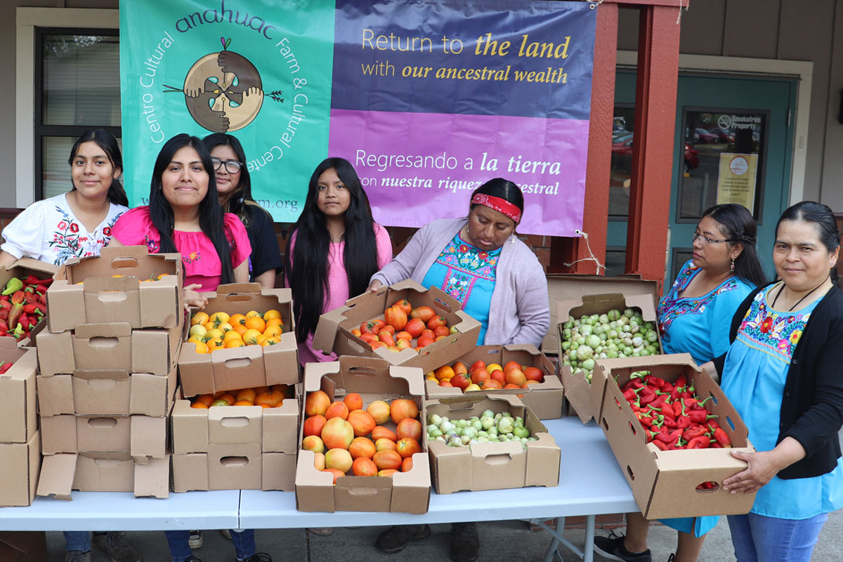
[[557,302],[556,332],[565,398],[588,423],[603,396],[603,381],[593,379],[594,361],[657,355],[662,347],[653,294],[590,294],[585,292],[588,286],[580,289],[582,296]]

